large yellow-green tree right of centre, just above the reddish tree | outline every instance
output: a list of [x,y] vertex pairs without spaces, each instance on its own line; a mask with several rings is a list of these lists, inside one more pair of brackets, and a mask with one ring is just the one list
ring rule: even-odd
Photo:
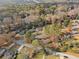
[[61,34],[61,26],[57,24],[47,25],[43,28],[44,33],[48,35],[60,35]]

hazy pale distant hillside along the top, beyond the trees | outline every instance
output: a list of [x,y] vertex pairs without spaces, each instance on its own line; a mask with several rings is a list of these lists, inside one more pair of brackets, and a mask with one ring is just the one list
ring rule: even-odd
[[77,2],[79,0],[0,0],[0,5],[4,4],[28,4],[28,3],[48,3],[48,2]]

